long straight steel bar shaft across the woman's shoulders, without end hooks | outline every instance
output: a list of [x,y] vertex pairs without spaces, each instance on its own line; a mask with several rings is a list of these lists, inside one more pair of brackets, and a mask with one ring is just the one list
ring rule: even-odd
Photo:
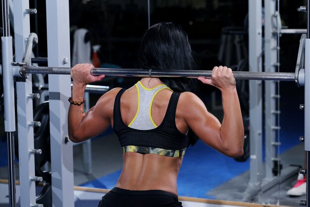
[[[36,67],[23,66],[20,73],[24,76],[28,73],[33,74],[70,74],[72,68],[61,67]],[[92,75],[106,76],[136,76],[136,77],[188,77],[197,78],[199,76],[211,77],[210,70],[155,70],[155,69],[108,69],[94,68],[90,70]],[[280,80],[295,81],[294,72],[251,72],[251,71],[233,71],[236,79],[245,80]]]

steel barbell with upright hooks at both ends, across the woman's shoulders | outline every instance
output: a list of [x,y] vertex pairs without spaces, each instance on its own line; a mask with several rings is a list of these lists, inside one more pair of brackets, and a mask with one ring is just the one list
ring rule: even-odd
[[[302,36],[302,40],[305,37]],[[11,65],[14,68],[15,76],[27,78],[27,74],[70,74],[72,68],[63,67],[37,67],[31,65],[31,54],[33,43],[37,43],[38,36],[31,33],[28,38],[22,63],[14,63]],[[303,45],[300,44],[300,48]],[[297,63],[301,61],[301,57]],[[275,80],[275,81],[295,81],[298,85],[304,85],[304,70],[301,69],[303,64],[296,67],[295,72],[254,72],[254,71],[233,71],[236,79],[243,80]],[[92,75],[106,76],[136,76],[136,77],[188,77],[197,78],[199,76],[211,77],[210,70],[159,70],[159,69],[109,69],[109,68],[94,68],[90,70]]]

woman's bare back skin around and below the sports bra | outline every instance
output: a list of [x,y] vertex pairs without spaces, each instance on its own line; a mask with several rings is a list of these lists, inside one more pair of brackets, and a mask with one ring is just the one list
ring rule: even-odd
[[[160,82],[142,80],[147,88],[153,88]],[[161,83],[162,84],[162,83]],[[164,89],[156,94],[152,104],[152,119],[159,126],[164,119],[172,91]],[[141,97],[143,98],[143,97]],[[138,108],[138,93],[136,87],[126,90],[120,99],[121,117],[125,125],[134,119]],[[177,114],[176,114],[177,117]],[[180,122],[180,123],[178,123]],[[188,130],[181,119],[176,119],[179,131]],[[147,139],[147,138],[146,138]],[[124,153],[124,167],[116,187],[129,190],[164,190],[177,194],[176,179],[182,163],[182,157],[166,157],[156,154]]]

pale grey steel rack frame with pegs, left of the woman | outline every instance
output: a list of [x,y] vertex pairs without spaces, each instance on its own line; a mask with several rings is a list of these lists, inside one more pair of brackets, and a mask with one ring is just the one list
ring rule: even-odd
[[[16,206],[15,171],[14,171],[14,84],[12,62],[12,38],[9,35],[8,1],[2,0],[3,33],[2,40],[2,74],[5,109],[5,132],[8,137],[9,150],[9,205]],[[26,41],[30,34],[29,0],[14,0],[15,60],[22,62]],[[69,38],[69,2],[68,0],[46,0],[48,62],[49,66],[64,67],[70,59]],[[30,54],[28,54],[31,56]],[[52,203],[57,207],[73,207],[73,153],[72,142],[67,140],[67,97],[71,94],[69,75],[49,75],[50,126],[51,126],[51,170]],[[36,204],[34,172],[34,137],[32,79],[16,80],[17,119],[19,136],[20,166],[20,205],[21,207],[42,207]],[[35,97],[35,96],[33,96]]]

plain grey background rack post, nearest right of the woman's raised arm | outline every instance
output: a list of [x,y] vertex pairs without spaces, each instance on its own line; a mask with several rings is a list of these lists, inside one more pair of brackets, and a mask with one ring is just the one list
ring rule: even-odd
[[[261,0],[249,0],[249,71],[261,71]],[[262,175],[261,80],[249,80],[250,91],[250,184]]]

